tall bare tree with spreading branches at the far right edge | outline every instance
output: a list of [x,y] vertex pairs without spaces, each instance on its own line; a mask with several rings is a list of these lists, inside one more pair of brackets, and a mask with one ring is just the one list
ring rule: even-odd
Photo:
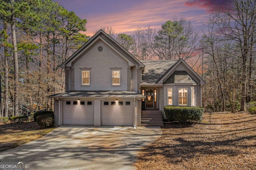
[[[222,40],[235,43],[236,53],[241,63],[241,100],[240,111],[244,111],[248,87],[248,61],[255,56],[256,43],[256,1],[232,0],[230,8],[216,10],[212,13],[211,22]],[[251,65],[251,64],[249,64]]]

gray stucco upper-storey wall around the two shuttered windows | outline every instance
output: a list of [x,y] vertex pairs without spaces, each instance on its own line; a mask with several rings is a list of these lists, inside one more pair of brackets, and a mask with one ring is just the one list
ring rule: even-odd
[[[98,47],[103,48],[98,51]],[[75,69],[74,90],[127,90],[127,69],[128,61],[111,49],[106,43],[98,40],[91,49],[81,54],[74,63]],[[90,85],[83,86],[81,79],[81,69],[90,69]],[[112,85],[111,69],[115,68],[121,71],[120,83],[121,85]]]

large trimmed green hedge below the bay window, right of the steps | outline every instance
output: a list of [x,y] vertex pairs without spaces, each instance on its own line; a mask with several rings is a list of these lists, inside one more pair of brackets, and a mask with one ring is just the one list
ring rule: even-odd
[[166,118],[170,122],[192,122],[199,123],[203,119],[204,108],[186,106],[166,106],[164,107]]

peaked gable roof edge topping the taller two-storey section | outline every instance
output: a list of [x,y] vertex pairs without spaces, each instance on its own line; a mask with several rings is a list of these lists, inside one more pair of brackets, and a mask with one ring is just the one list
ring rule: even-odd
[[127,51],[122,45],[120,45],[116,40],[114,40],[112,37],[110,37],[106,32],[103,30],[99,30],[88,42],[84,43],[82,47],[80,47],[76,52],[74,52],[66,61],[64,61],[60,67],[65,68],[65,67],[71,67],[72,61],[74,61],[77,57],[80,56],[81,53],[86,51],[94,42],[97,40],[102,40],[105,42],[107,45],[110,46],[114,51],[116,51],[121,57],[126,59],[128,61],[129,66],[134,66],[135,63],[139,65],[139,67],[144,67],[144,65],[136,59],[129,51]]

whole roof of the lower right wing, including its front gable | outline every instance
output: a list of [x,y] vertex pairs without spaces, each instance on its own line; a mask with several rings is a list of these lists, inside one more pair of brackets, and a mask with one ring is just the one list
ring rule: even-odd
[[[163,84],[171,74],[173,74],[176,70],[176,67],[180,65],[181,63],[184,64],[186,71],[186,74],[183,73],[183,75],[179,75],[181,73],[176,72],[173,76],[175,79],[176,75],[176,81],[180,81],[180,79],[183,79],[183,81],[186,81],[187,83],[199,83],[200,85],[205,85],[206,82],[183,60],[144,60],[141,61],[145,67],[144,72],[142,73],[142,83],[141,85],[155,85],[155,84]],[[189,71],[189,73],[188,73]],[[195,77],[199,80],[199,82],[196,82],[194,78]],[[179,80],[178,80],[179,79]],[[186,80],[185,80],[186,79]],[[169,79],[170,81],[170,79]],[[166,82],[165,82],[166,83]]]

